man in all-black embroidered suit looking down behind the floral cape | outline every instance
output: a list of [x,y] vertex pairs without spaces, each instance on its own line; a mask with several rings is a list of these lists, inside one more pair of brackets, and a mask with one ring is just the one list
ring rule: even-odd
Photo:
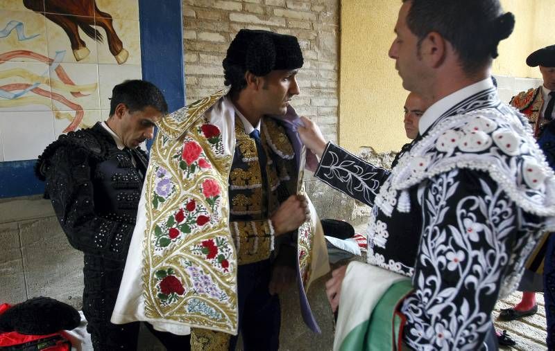
[[[108,120],[60,136],[36,165],[69,243],[85,253],[83,313],[94,350],[137,349],[139,324],[114,325],[110,316],[148,164],[139,144],[166,111],[154,84],[126,80],[112,90]],[[180,340],[155,334],[167,347]]]

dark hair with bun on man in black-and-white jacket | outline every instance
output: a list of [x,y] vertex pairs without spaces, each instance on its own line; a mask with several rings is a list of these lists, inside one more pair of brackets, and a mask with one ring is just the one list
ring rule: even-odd
[[513,32],[511,12],[502,15],[499,0],[411,1],[407,26],[419,39],[437,32],[451,43],[463,71],[477,73],[497,57],[497,45]]

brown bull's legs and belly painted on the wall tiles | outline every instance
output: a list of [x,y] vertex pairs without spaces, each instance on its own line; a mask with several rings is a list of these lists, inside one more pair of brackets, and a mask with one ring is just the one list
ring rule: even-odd
[[[90,53],[83,39],[79,37],[81,28],[86,35],[103,42],[103,37],[93,26],[104,28],[108,37],[108,48],[114,55],[117,63],[126,62],[129,53],[123,48],[123,43],[117,36],[114,26],[112,26],[112,16],[102,12],[96,6],[94,0],[23,0],[24,6],[33,10],[47,19],[50,19],[62,29],[69,37],[71,49],[77,61],[83,60]],[[44,5],[43,5],[44,3]],[[44,8],[46,11],[44,12]]]

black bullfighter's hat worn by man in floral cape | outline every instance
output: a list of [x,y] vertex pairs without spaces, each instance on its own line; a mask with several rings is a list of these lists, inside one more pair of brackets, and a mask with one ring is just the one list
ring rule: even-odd
[[293,35],[241,29],[228,48],[223,66],[237,65],[262,77],[276,69],[302,67],[302,52]]

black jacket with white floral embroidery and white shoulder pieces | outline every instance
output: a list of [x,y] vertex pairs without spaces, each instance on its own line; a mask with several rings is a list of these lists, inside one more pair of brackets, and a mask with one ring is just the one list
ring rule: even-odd
[[493,87],[437,118],[391,172],[328,144],[316,177],[373,206],[368,262],[412,278],[401,312],[416,350],[481,348],[495,301],[553,229],[554,172]]

